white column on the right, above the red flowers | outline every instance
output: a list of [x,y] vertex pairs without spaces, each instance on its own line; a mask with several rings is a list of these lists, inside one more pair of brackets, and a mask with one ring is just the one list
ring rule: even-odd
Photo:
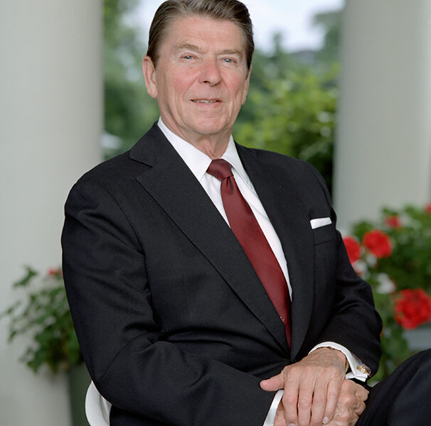
[[346,0],[334,200],[339,224],[431,198],[431,0]]

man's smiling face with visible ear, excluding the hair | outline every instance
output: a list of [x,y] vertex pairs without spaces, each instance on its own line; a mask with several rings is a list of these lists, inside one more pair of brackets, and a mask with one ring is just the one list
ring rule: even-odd
[[245,37],[230,21],[177,18],[167,29],[154,70],[143,62],[147,90],[166,126],[191,143],[228,138],[247,95]]

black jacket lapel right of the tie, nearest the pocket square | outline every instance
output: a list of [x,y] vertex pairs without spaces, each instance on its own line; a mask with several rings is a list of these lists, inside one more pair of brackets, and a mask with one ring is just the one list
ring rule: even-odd
[[255,151],[237,146],[244,168],[282,244],[292,285],[291,359],[301,348],[312,315],[314,238],[307,209],[288,170],[259,161]]

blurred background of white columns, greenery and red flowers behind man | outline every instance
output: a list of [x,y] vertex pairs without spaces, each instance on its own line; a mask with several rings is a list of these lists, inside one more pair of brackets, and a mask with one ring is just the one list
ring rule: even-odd
[[[235,140],[324,176],[385,322],[383,378],[431,346],[431,0],[244,2],[257,50]],[[85,425],[63,204],[159,116],[141,72],[159,4],[1,1],[2,425]]]

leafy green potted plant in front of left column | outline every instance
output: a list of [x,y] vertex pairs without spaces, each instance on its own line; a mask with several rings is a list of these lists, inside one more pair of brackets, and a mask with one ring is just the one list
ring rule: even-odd
[[24,296],[0,313],[9,318],[9,342],[19,335],[31,335],[33,341],[21,361],[33,371],[48,365],[52,371],[67,370],[83,362],[65,295],[61,270],[40,276],[30,267],[14,283]]

